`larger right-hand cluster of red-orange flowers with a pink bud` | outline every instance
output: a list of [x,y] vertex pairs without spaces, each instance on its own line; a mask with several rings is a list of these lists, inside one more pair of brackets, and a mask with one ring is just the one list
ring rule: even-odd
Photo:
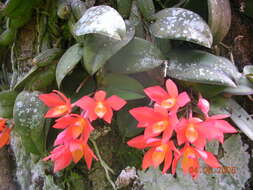
[[[144,128],[144,134],[137,136],[128,145],[137,149],[149,148],[145,153],[142,168],[157,168],[163,163],[163,173],[171,168],[176,171],[181,160],[183,172],[195,178],[199,173],[199,158],[210,167],[220,166],[215,156],[205,151],[208,140],[219,140],[223,143],[224,133],[236,133],[236,130],[225,120],[228,115],[209,116],[209,102],[200,97],[198,107],[204,119],[193,117],[189,111],[188,118],[179,117],[179,112],[191,100],[186,92],[178,93],[172,80],[166,81],[166,90],[160,86],[146,88],[144,92],[154,102],[151,107],[138,107],[130,110],[130,114],[138,121],[137,127]],[[172,140],[176,133],[179,150]]]

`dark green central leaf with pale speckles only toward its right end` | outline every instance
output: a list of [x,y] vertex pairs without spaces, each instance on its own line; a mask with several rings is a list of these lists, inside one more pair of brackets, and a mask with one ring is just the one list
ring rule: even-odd
[[137,73],[158,67],[163,62],[161,51],[153,43],[135,37],[105,67],[111,72]]

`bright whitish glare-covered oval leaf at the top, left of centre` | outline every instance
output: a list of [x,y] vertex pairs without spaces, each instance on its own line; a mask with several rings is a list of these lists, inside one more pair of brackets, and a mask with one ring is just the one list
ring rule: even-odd
[[126,25],[120,14],[112,7],[100,5],[89,8],[74,26],[77,36],[101,34],[121,40],[126,34]]

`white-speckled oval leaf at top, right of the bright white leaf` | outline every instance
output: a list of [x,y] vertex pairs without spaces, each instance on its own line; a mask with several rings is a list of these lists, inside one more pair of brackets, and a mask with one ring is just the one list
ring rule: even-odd
[[213,37],[206,22],[196,13],[182,8],[168,8],[156,13],[156,21],[150,25],[157,38],[193,42],[212,46]]

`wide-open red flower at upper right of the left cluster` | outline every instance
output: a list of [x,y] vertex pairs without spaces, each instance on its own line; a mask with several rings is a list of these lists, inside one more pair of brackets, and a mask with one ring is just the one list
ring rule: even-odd
[[97,91],[94,99],[89,96],[84,96],[74,103],[74,105],[79,106],[86,111],[85,116],[87,116],[90,121],[100,118],[107,123],[111,123],[113,116],[112,110],[118,111],[125,104],[125,100],[115,95],[106,99],[106,92],[103,90]]

